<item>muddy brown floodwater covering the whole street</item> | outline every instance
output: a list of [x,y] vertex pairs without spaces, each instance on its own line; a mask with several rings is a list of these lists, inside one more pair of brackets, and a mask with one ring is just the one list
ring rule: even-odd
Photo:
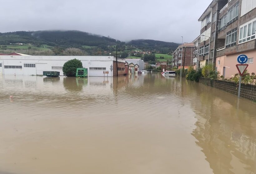
[[256,173],[256,103],[178,77],[0,76],[0,108],[0,174]]

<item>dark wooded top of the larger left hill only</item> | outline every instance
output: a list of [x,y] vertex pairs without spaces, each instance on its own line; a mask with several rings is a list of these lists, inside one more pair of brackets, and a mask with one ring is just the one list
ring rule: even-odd
[[[115,45],[116,39],[93,35],[82,31],[17,31],[0,33],[0,45],[10,43],[31,43],[34,45],[47,44],[59,47],[81,47]],[[118,41],[121,43],[120,41]]]

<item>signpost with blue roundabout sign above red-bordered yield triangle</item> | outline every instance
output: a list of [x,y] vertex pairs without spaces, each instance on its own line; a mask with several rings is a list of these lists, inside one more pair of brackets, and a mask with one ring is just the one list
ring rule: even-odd
[[237,57],[237,62],[240,63],[240,64],[236,65],[236,68],[240,74],[239,87],[238,87],[238,98],[240,98],[242,76],[244,75],[244,72],[246,71],[247,67],[249,66],[248,64],[244,64],[247,61],[248,61],[248,57],[245,54],[241,54]]

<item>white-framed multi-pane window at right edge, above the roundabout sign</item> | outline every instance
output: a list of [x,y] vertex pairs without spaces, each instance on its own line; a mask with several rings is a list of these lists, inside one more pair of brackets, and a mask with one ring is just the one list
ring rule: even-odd
[[256,18],[240,26],[239,43],[255,39]]

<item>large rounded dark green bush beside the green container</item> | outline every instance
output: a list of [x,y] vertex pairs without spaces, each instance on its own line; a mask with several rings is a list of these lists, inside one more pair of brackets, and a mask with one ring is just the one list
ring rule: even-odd
[[76,69],[82,67],[83,64],[80,60],[72,59],[64,63],[62,71],[65,76],[74,77],[76,76]]

